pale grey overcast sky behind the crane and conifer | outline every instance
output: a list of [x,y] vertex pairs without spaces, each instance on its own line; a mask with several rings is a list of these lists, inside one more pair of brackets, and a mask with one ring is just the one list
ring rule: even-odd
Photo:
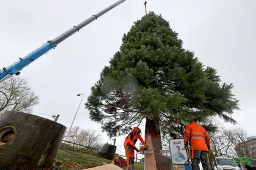
[[[1,2],[0,67],[9,66],[115,2]],[[84,93],[74,125],[100,132],[100,125],[90,122],[84,103],[103,67],[119,50],[123,34],[145,15],[143,2],[125,1],[23,69],[20,76],[28,78],[29,85],[40,96],[35,115],[52,119],[47,115],[60,114],[58,122],[70,127],[81,100],[76,94]],[[206,66],[216,68],[221,80],[234,83],[233,92],[241,107],[234,118],[250,135],[256,135],[253,125],[256,120],[255,6],[254,0],[149,0],[147,4],[148,10],[162,14],[170,22],[184,41],[184,48],[195,52]],[[141,129],[145,128],[141,126]],[[103,135],[103,142],[108,141],[106,134]],[[116,141],[116,145],[123,143],[124,136]],[[123,147],[118,147],[118,151],[124,154]]]

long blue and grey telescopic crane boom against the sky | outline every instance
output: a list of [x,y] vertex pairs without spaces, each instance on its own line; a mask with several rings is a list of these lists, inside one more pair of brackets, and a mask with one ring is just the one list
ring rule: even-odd
[[17,62],[13,63],[12,65],[10,65],[8,67],[4,67],[3,70],[0,71],[0,83],[2,81],[6,80],[7,78],[10,78],[10,76],[12,76],[13,74],[19,75],[20,71],[22,69],[24,69],[24,67],[31,64],[31,62],[35,61],[36,59],[38,59],[39,57],[41,57],[45,53],[49,52],[50,50],[52,50],[52,48],[56,48],[56,46],[59,43],[61,43],[62,41],[64,41],[68,37],[72,36],[72,34],[78,32],[80,29],[82,29],[86,25],[90,24],[94,20],[97,20],[97,18],[104,15],[108,11],[112,10],[113,8],[118,6],[119,4],[124,3],[124,1],[126,1],[126,0],[117,1],[116,3],[112,4],[111,6],[108,6],[107,8],[105,8],[104,10],[99,11],[99,13],[96,13],[95,15],[92,15],[92,17],[84,20],[80,24],[72,27],[68,31],[61,34],[60,36],[58,36],[58,37],[56,37],[56,38],[54,38],[50,41],[47,41],[47,43],[40,46],[35,51],[29,53],[24,58],[19,58],[19,60]]

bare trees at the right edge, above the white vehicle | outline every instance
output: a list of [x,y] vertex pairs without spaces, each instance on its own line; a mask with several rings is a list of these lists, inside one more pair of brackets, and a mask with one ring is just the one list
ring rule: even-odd
[[256,155],[256,149],[250,145],[248,134],[244,129],[229,129],[225,130],[224,134],[233,145],[232,152],[236,153],[238,157],[253,157]]

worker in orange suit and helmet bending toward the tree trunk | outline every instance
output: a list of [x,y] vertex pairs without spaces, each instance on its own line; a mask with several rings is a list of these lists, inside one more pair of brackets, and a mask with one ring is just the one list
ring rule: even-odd
[[140,152],[138,148],[136,148],[136,141],[140,139],[141,143],[144,146],[147,146],[145,141],[141,138],[141,130],[139,127],[134,127],[132,131],[128,134],[124,141],[125,154],[127,159],[127,167],[128,170],[134,170],[134,150]]

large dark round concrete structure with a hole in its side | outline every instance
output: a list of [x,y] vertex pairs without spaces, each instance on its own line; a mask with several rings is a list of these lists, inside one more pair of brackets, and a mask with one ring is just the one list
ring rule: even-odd
[[0,116],[0,169],[51,168],[66,130],[47,118],[4,112]]

